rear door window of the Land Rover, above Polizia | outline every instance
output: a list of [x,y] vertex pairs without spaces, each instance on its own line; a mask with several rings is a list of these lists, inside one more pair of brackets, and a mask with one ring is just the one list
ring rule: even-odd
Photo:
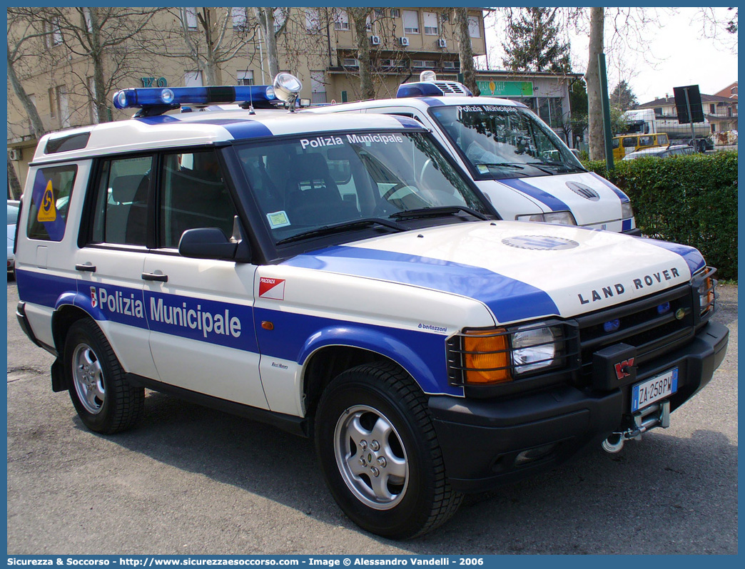
[[107,160],[93,212],[93,243],[145,245],[152,156]]

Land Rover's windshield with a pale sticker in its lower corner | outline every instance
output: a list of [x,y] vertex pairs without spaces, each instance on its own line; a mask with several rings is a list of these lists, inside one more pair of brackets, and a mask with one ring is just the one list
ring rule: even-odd
[[236,150],[278,243],[337,226],[401,230],[409,211],[490,213],[426,133],[309,135]]

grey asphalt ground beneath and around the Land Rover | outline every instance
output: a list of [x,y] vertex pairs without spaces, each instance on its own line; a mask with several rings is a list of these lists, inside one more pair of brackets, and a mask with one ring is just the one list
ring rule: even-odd
[[728,355],[670,428],[469,498],[397,543],[340,512],[309,440],[155,392],[135,430],[86,430],[51,391],[52,357],[20,331],[10,283],[7,552],[737,553],[737,288],[720,292]]

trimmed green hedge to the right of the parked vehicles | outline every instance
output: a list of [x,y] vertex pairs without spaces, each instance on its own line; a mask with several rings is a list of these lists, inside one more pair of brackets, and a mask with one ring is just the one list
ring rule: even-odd
[[696,247],[719,269],[738,278],[738,153],[584,162],[631,198],[644,235]]

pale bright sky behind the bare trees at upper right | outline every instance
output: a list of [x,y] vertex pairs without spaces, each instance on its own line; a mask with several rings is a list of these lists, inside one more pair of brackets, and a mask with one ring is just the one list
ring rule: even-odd
[[[714,95],[715,92],[738,80],[738,56],[736,36],[718,31],[714,39],[702,37],[704,24],[700,10],[693,7],[676,8],[668,13],[657,13],[660,25],[644,28],[641,49],[623,46],[609,48],[611,35],[606,25],[606,61],[608,66],[609,92],[619,80],[627,80],[640,104],[673,96],[673,87],[699,85],[700,92]],[[714,8],[717,16],[731,16],[726,8]],[[497,15],[498,19],[499,16]],[[606,22],[607,22],[606,18]],[[501,22],[494,25],[495,16],[486,17],[486,45],[492,69],[503,69],[501,60]],[[711,35],[711,27],[707,26]],[[629,34],[627,34],[627,37]],[[583,73],[587,66],[587,34],[571,34],[572,70]],[[735,52],[732,51],[735,45]]]

